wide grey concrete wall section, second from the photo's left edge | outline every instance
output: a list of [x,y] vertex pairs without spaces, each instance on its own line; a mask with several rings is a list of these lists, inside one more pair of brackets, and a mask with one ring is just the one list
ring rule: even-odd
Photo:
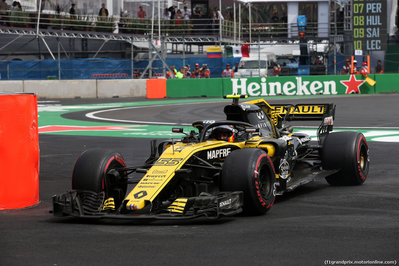
[[24,80],[24,92],[37,92],[38,98],[96,98],[95,79]]

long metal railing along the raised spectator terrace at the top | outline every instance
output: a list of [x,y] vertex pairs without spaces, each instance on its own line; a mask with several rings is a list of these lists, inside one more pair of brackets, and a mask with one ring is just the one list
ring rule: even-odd
[[[5,26],[18,28],[37,28],[38,13],[25,11],[10,11],[3,16]],[[219,24],[219,22],[221,22]],[[343,25],[339,23],[337,33],[343,32]],[[326,36],[334,34],[335,28],[329,28],[325,23],[320,26],[316,22],[308,22],[306,26],[297,23],[251,23],[239,24],[229,20],[210,18],[198,19],[151,19],[121,17],[102,17],[97,15],[40,14],[39,28],[52,30],[72,30],[83,32],[108,32],[119,34],[141,35],[222,35],[236,38],[296,37],[304,33],[308,37]],[[219,29],[220,28],[220,29]]]

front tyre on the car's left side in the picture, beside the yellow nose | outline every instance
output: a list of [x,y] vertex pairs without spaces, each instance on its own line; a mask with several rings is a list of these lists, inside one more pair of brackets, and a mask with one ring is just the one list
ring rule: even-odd
[[[105,199],[114,197],[115,208],[118,208],[126,195],[127,184],[119,184],[117,180],[107,180],[106,173],[112,168],[126,167],[120,153],[109,149],[90,149],[83,152],[75,163],[72,173],[72,189],[89,190],[95,193],[113,191],[113,195],[105,194]],[[110,187],[106,188],[105,184]]]

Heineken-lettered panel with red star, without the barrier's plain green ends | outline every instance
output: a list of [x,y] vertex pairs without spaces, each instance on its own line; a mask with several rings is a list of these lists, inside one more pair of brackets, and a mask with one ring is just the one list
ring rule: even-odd
[[[374,79],[374,75],[368,75]],[[223,94],[249,96],[374,93],[362,75],[238,77],[223,79]]]

